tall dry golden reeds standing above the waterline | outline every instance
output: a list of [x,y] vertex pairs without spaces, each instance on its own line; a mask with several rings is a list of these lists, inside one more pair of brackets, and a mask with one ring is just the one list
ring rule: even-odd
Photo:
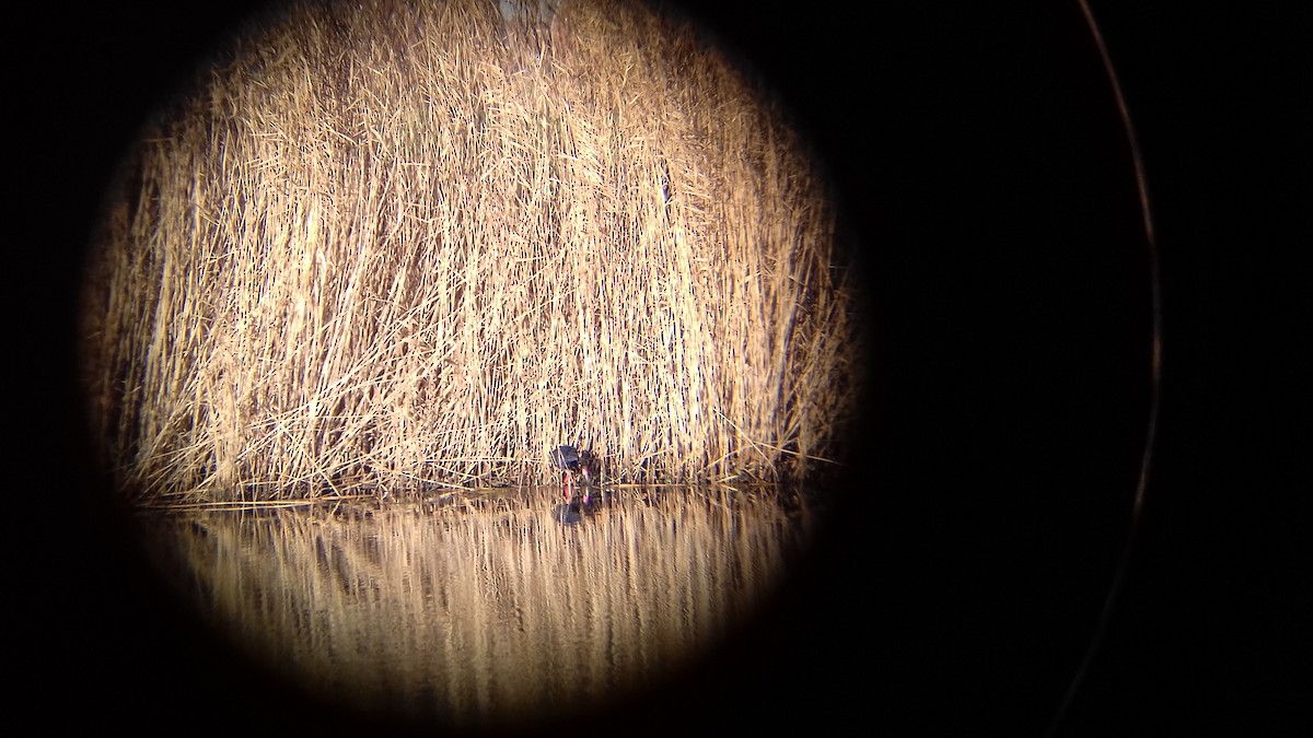
[[309,4],[127,156],[84,374],[130,498],[618,481],[827,458],[859,383],[825,181],[633,3]]

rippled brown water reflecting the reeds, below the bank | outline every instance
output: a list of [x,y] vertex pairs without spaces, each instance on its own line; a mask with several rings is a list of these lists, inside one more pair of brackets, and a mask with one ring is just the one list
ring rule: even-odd
[[[252,658],[368,712],[569,717],[691,666],[786,574],[777,490],[621,490],[152,516],[169,578]],[[792,502],[789,502],[792,500]]]

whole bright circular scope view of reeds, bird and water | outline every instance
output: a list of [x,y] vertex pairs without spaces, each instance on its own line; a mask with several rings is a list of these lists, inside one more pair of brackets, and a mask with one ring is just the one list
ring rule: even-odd
[[829,184],[639,3],[291,4],[158,109],[81,294],[98,464],[299,691],[523,726],[769,600],[860,386]]

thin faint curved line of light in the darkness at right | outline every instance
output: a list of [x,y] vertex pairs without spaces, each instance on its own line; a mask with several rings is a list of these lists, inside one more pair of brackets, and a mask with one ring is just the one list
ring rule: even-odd
[[1081,659],[1081,666],[1077,667],[1075,674],[1071,676],[1071,683],[1067,685],[1066,693],[1062,695],[1062,701],[1058,704],[1057,713],[1053,716],[1053,722],[1049,725],[1046,735],[1050,737],[1057,734],[1064,720],[1067,717],[1071,704],[1075,700],[1075,695],[1081,691],[1081,685],[1085,683],[1086,675],[1090,671],[1090,664],[1094,663],[1094,657],[1098,654],[1099,646],[1103,643],[1103,640],[1108,633],[1108,622],[1112,620],[1112,611],[1116,608],[1117,595],[1121,592],[1127,570],[1130,567],[1130,554],[1136,548],[1141,512],[1144,510],[1145,488],[1149,483],[1149,471],[1153,465],[1153,449],[1158,435],[1158,406],[1162,399],[1162,288],[1158,278],[1158,244],[1154,236],[1153,217],[1149,214],[1149,186],[1145,180],[1144,160],[1140,156],[1140,142],[1136,139],[1134,126],[1130,125],[1130,110],[1127,108],[1127,98],[1121,93],[1121,83],[1117,80],[1117,72],[1112,66],[1112,59],[1108,56],[1108,47],[1103,42],[1103,34],[1099,32],[1099,24],[1094,20],[1094,13],[1090,11],[1088,0],[1077,0],[1077,4],[1081,5],[1081,12],[1085,13],[1085,20],[1090,26],[1090,32],[1094,34],[1095,45],[1099,47],[1099,55],[1103,58],[1103,67],[1107,70],[1108,79],[1112,81],[1112,93],[1117,100],[1117,110],[1121,113],[1121,123],[1125,127],[1127,141],[1130,144],[1130,159],[1136,168],[1136,186],[1140,190],[1140,210],[1144,214],[1145,239],[1149,246],[1150,302],[1153,311],[1153,357],[1150,366],[1152,389],[1149,402],[1149,428],[1145,436],[1144,456],[1140,460],[1140,478],[1136,482],[1136,496],[1130,508],[1130,533],[1127,536],[1125,546],[1121,549],[1121,557],[1117,561],[1117,570],[1112,578],[1112,587],[1108,590],[1108,596],[1103,601],[1103,611],[1099,613],[1099,624],[1095,626],[1094,637],[1090,640],[1090,646],[1086,649],[1085,657]]

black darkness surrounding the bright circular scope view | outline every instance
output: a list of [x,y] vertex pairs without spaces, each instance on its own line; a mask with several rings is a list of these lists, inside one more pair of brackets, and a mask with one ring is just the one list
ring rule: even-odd
[[[691,4],[788,100],[842,192],[876,347],[853,429],[871,450],[758,628],[571,730],[1053,725],[1132,531],[1150,251],[1079,7],[1007,5]],[[1299,26],[1280,7],[1121,5],[1095,13],[1157,230],[1161,424],[1130,566],[1058,727],[1264,733],[1308,718],[1292,549],[1309,488],[1292,469],[1313,437],[1295,387],[1295,255],[1313,243]],[[97,502],[74,423],[71,273],[95,202],[146,112],[253,7],[127,3],[11,29],[26,226],[11,250],[11,431],[30,441],[11,561],[32,575],[11,600],[30,613],[11,668],[24,701],[54,705],[46,725],[364,727],[183,617]]]

